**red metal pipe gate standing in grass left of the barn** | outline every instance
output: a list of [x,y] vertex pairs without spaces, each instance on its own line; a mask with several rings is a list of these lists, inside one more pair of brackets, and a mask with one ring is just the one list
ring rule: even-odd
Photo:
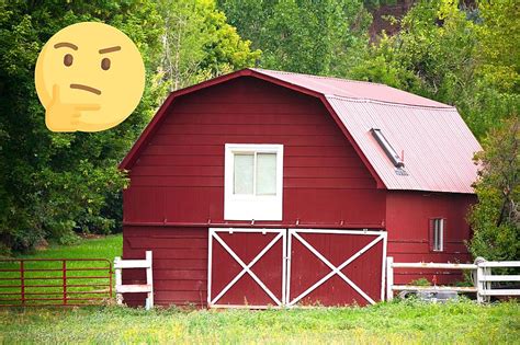
[[0,307],[99,304],[112,298],[105,258],[0,260]]

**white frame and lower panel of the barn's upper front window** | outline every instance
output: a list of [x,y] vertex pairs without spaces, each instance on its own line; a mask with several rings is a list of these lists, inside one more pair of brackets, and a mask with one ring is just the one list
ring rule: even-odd
[[[276,154],[276,194],[234,194],[236,153]],[[256,164],[256,163],[255,163]],[[255,165],[256,166],[256,165]],[[256,169],[253,169],[256,174]],[[253,181],[256,183],[256,181]],[[224,163],[224,219],[225,220],[282,220],[283,200],[283,145],[226,143]]]

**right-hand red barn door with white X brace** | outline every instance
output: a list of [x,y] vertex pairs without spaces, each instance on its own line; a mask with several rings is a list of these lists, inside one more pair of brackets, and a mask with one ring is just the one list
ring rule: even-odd
[[286,304],[373,304],[384,298],[386,232],[289,230]]

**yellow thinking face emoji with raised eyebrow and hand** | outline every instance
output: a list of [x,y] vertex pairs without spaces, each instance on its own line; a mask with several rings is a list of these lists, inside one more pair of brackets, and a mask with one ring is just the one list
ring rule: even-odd
[[102,23],[78,23],[56,33],[36,61],[36,92],[53,131],[99,131],[132,114],[145,88],[135,44]]

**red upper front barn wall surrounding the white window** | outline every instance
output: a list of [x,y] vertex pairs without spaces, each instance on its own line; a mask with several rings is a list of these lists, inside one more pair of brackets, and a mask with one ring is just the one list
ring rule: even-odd
[[124,221],[225,222],[227,142],[284,145],[281,226],[381,228],[384,191],[321,102],[249,77],[173,103],[132,169]]

